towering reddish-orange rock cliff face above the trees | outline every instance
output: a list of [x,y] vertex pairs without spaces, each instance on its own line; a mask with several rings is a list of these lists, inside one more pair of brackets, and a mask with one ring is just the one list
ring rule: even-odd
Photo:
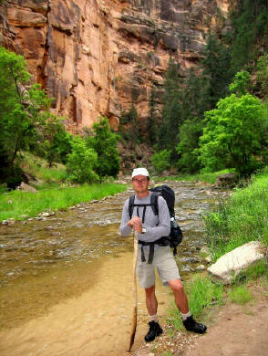
[[119,127],[133,103],[139,120],[151,87],[161,92],[170,55],[181,76],[202,56],[230,0],[6,0],[0,46],[22,54],[33,80],[55,98],[70,131],[107,116]]

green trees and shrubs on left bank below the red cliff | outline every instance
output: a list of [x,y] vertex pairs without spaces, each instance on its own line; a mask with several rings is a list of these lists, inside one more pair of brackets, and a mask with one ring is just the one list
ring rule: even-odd
[[50,112],[53,99],[32,85],[22,56],[0,47],[0,182],[15,188],[26,179],[20,164],[23,151],[67,164],[67,181],[92,183],[119,173],[117,136],[100,118],[85,137],[73,137]]

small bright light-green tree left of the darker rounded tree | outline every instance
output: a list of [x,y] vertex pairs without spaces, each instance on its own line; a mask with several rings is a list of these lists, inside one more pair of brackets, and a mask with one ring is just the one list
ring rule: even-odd
[[97,152],[88,148],[82,138],[75,137],[72,141],[72,152],[67,156],[67,179],[75,183],[98,181],[98,174],[94,171],[97,162]]

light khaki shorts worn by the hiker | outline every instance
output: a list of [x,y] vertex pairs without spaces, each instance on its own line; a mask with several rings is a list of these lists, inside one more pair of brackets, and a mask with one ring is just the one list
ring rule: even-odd
[[180,273],[176,261],[171,253],[170,246],[160,246],[154,249],[152,264],[148,264],[149,248],[144,246],[146,262],[141,262],[141,252],[139,248],[137,262],[137,276],[141,288],[150,288],[155,284],[155,267],[157,268],[160,279],[164,286],[172,279],[180,279]]

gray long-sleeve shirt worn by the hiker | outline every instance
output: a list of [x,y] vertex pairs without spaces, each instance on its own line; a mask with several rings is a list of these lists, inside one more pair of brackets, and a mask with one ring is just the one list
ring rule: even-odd
[[[134,204],[150,204],[150,194],[142,199],[138,198],[138,196],[135,195]],[[158,204],[159,204],[159,215],[154,215],[151,206],[146,207],[145,219],[144,219],[144,223],[142,224],[143,227],[146,227],[146,233],[139,234],[140,241],[153,242],[158,240],[162,236],[170,235],[170,212],[169,212],[168,205],[162,196],[159,196]],[[139,209],[139,215],[138,215],[138,209]],[[143,209],[144,207],[142,206],[134,206],[132,216],[136,215],[142,218]],[[121,236],[128,236],[132,231],[131,227],[127,225],[129,219],[130,219],[129,199],[127,199],[123,207],[121,224],[119,227]]]

